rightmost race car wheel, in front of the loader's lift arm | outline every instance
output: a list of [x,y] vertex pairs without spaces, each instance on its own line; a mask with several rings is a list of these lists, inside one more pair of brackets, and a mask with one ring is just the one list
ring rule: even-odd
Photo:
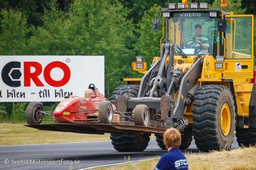
[[150,122],[150,111],[146,105],[137,105],[134,108],[134,125],[136,126],[148,126]]

